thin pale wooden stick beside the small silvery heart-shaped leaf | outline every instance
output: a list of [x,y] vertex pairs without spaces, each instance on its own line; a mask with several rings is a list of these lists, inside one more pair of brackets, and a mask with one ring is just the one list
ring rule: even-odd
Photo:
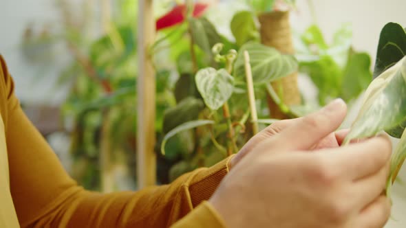
[[247,89],[248,89],[248,102],[250,104],[250,112],[251,112],[251,121],[253,124],[253,133],[257,135],[259,132],[258,130],[258,114],[257,114],[257,107],[255,106],[255,93],[254,93],[254,84],[253,84],[253,73],[251,72],[251,65],[250,65],[250,54],[245,51],[244,52],[244,65],[245,65],[245,76],[247,81]]

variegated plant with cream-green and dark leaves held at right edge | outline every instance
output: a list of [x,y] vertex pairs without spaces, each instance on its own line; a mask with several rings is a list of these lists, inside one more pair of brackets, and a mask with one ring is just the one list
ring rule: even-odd
[[396,24],[383,27],[374,80],[365,91],[358,117],[344,141],[371,137],[385,130],[400,138],[392,155],[387,193],[406,158],[406,32]]

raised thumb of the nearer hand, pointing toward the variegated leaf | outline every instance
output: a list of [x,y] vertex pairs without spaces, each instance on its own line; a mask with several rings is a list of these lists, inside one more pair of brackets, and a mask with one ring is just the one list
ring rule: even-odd
[[339,128],[346,113],[345,102],[334,100],[320,111],[297,119],[297,123],[282,130],[274,138],[277,145],[272,143],[279,150],[308,150]]

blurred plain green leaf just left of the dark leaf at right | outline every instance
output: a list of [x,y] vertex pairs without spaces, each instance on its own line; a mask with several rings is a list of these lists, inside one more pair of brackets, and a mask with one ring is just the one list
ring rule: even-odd
[[341,98],[352,100],[357,98],[371,83],[371,58],[366,53],[350,54],[343,73]]

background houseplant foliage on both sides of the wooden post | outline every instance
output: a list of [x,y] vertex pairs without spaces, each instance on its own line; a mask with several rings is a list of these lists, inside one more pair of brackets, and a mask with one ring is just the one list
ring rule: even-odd
[[[295,56],[261,45],[259,14],[294,8],[294,1],[248,2],[246,10],[236,11],[231,19],[228,30],[233,37],[221,34],[219,25],[209,20],[211,5],[165,1],[165,7],[158,10],[164,13],[156,21],[158,36],[149,54],[157,72],[159,183],[168,183],[184,172],[217,163],[237,152],[256,133],[256,125],[263,128],[275,122],[270,119],[268,95],[288,117],[307,113],[306,100],[299,106],[288,106],[281,94],[269,86],[298,68],[308,73],[316,84],[320,104],[330,99],[325,95],[326,88],[334,87],[337,91],[334,95],[342,95],[341,90],[348,88],[342,85],[346,81],[344,76],[362,72],[365,77],[352,84],[354,87],[348,92],[352,95],[345,97],[347,102],[356,98],[372,78],[369,56],[363,55],[364,64],[347,67],[354,62],[348,61],[350,56],[357,54],[351,48],[351,32],[347,29],[339,30],[333,44],[326,45],[317,26],[310,27],[298,36],[301,49],[295,47],[298,50]],[[122,168],[124,163],[132,177],[136,172],[133,151],[137,116],[134,26],[137,1],[114,1],[113,12],[117,13],[111,15],[111,21],[103,26],[107,29],[100,36],[87,32],[92,23],[86,10],[74,17],[68,1],[59,3],[65,32],[52,34],[48,45],[62,41],[73,56],[61,72],[60,82],[72,83],[63,111],[65,119],[73,120],[74,177],[85,187],[100,190],[103,188],[100,178],[105,170]],[[30,48],[25,50],[43,45],[28,44],[24,48]],[[344,54],[336,55],[333,51],[337,48],[343,49]],[[248,95],[245,51],[253,73],[253,103]],[[36,56],[39,56],[37,52]],[[339,73],[334,77],[327,70],[330,62],[339,62],[336,63],[339,67],[334,67]],[[316,75],[320,66],[324,70]],[[253,107],[256,118],[252,115]],[[111,161],[107,164],[100,163],[105,152]]]

